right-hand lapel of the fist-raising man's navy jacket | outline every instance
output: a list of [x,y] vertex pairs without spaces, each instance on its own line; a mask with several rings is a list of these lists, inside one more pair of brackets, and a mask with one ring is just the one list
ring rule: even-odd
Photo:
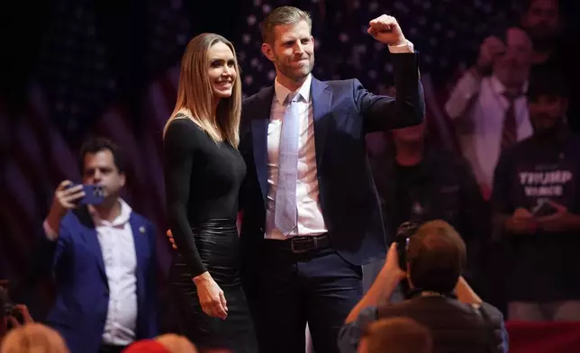
[[313,116],[314,116],[314,145],[316,146],[316,166],[321,167],[326,132],[329,119],[322,119],[331,111],[331,87],[313,77],[312,83]]

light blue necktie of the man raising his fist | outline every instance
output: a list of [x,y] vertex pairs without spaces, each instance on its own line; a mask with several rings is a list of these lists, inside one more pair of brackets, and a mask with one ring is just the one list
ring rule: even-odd
[[296,181],[298,180],[298,98],[297,93],[286,97],[284,120],[278,147],[278,181],[274,225],[285,236],[296,227]]

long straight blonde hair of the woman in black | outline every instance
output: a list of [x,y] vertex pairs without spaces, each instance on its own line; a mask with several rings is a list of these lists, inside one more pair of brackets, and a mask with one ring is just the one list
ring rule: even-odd
[[[222,98],[213,112],[213,87],[207,75],[210,65],[209,50],[213,44],[224,43],[233,53],[236,79],[231,96]],[[176,119],[177,113],[184,113],[199,125],[215,141],[225,140],[233,147],[240,142],[241,79],[236,51],[230,41],[219,34],[202,33],[187,43],[181,59],[181,72],[177,88],[177,103],[171,117],[165,124]]]

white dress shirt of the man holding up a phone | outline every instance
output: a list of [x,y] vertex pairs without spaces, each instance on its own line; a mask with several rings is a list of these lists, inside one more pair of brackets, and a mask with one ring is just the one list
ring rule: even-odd
[[[89,206],[96,236],[103,253],[104,270],[109,284],[109,305],[104,323],[103,343],[127,346],[136,338],[137,329],[137,255],[131,223],[131,206],[119,199],[121,213],[113,222],[99,218]],[[50,240],[58,234],[44,222]]]

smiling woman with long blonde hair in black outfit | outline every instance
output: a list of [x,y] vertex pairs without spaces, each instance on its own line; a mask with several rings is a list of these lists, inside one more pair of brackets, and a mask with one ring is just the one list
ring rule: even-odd
[[187,44],[177,104],[164,135],[170,281],[182,333],[201,350],[257,351],[240,281],[236,228],[246,165],[238,151],[240,69],[230,41],[203,33]]

